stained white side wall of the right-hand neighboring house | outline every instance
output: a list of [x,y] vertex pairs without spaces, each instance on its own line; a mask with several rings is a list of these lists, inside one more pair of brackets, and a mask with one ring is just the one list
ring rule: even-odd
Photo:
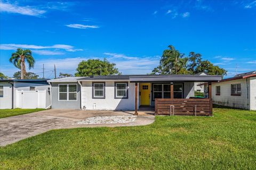
[[[241,96],[231,96],[231,84],[241,83]],[[216,94],[216,86],[220,86],[220,96]],[[248,84],[250,89],[250,82]],[[238,79],[212,83],[212,100],[213,104],[249,109],[250,99],[247,98],[246,79]]]

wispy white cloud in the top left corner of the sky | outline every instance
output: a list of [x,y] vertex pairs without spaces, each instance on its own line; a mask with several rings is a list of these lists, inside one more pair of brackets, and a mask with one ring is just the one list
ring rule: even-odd
[[30,16],[42,16],[46,11],[38,10],[35,7],[30,6],[18,6],[15,4],[3,3],[0,2],[0,11],[7,13],[18,13],[21,15],[30,15]]

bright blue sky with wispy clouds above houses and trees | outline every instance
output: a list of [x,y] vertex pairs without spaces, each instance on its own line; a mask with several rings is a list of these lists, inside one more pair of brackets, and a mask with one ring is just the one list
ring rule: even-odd
[[45,78],[75,73],[77,64],[106,57],[122,74],[150,73],[168,45],[237,72],[256,70],[256,1],[0,1],[0,72],[31,49],[30,71]]

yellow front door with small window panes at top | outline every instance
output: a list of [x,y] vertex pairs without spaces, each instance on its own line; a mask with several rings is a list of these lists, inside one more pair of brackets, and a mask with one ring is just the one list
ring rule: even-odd
[[150,105],[150,83],[140,84],[140,105]]

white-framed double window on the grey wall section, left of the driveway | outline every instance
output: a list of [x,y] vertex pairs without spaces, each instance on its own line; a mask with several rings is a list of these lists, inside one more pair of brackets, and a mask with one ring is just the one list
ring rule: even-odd
[[77,84],[59,84],[59,100],[76,101]]

